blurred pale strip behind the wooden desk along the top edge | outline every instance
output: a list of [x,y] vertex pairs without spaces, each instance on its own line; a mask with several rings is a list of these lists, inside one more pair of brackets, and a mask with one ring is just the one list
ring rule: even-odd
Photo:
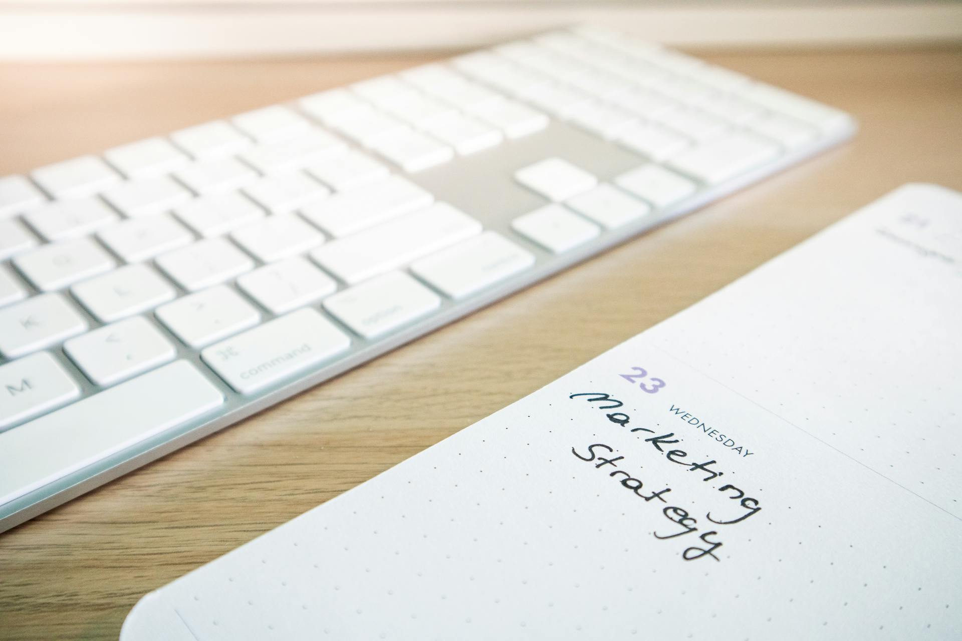
[[962,40],[954,0],[0,0],[0,60],[464,49],[576,22],[676,46]]

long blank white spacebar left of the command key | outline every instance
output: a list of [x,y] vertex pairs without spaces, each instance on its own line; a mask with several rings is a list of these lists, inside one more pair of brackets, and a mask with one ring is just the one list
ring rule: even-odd
[[223,402],[193,365],[177,360],[0,433],[0,505]]

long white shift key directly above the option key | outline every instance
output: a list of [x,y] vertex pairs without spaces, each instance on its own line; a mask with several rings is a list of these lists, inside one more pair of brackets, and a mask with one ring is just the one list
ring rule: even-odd
[[468,214],[436,203],[321,245],[311,258],[343,282],[357,283],[480,233],[481,223]]

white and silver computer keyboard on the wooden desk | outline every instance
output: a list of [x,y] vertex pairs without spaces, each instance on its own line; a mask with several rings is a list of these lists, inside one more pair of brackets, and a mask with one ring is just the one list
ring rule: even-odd
[[0,178],[0,530],[853,131],[579,27]]

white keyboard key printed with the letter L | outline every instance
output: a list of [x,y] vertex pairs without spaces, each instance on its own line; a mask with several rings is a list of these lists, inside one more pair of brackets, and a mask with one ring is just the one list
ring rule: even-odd
[[177,295],[153,267],[144,264],[120,267],[75,284],[71,291],[80,304],[103,323],[156,308]]

